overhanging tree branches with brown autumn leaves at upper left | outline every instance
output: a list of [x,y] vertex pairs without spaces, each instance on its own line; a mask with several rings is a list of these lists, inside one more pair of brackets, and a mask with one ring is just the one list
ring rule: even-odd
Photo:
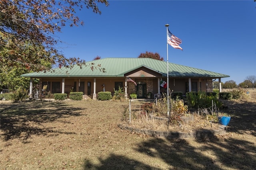
[[66,24],[84,25],[76,16],[77,10],[87,8],[101,14],[96,3],[108,6],[106,0],[1,0],[0,62],[8,67],[23,64],[34,71],[50,69],[42,60],[60,68],[86,65],[79,58],[66,58],[56,48],[61,40],[55,33]]

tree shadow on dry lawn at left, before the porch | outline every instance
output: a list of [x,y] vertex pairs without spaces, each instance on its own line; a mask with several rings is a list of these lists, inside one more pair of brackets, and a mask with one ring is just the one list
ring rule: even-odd
[[32,135],[72,134],[55,131],[54,127],[45,127],[43,123],[54,121],[69,123],[68,117],[80,116],[79,110],[80,108],[68,106],[64,102],[26,101],[1,104],[2,139],[8,141],[18,138],[22,139],[23,143],[28,143],[27,139]]

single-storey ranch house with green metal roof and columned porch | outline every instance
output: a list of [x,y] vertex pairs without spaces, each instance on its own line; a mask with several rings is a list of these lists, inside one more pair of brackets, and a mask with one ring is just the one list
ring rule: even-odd
[[[87,64],[98,64],[105,68],[106,72],[99,69],[91,70],[90,66],[75,65],[70,68],[54,68],[54,71],[32,72],[22,74],[23,77],[30,77],[30,96],[32,92],[33,78],[39,78],[39,94],[42,94],[42,87],[47,86],[46,91],[52,93],[83,92],[84,95],[96,99],[101,91],[114,93],[114,89],[122,87],[126,98],[129,94],[136,93],[138,98],[146,98],[151,92],[152,98],[166,92],[167,88],[161,86],[162,82],[169,82],[168,88],[174,92],[212,92],[212,82],[219,80],[221,92],[221,78],[229,77],[225,74],[201,70],[174,63],[150,58],[105,58],[87,62]],[[128,81],[127,81],[128,80]],[[133,80],[129,81],[129,80]]]

